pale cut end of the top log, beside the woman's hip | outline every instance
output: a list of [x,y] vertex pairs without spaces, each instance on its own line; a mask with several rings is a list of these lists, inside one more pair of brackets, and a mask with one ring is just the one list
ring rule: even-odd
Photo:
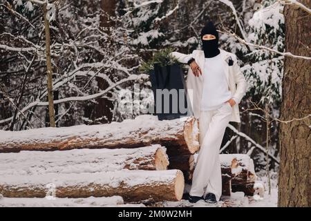
[[194,117],[189,117],[184,125],[184,136],[186,144],[191,154],[196,153],[199,150],[198,142],[198,121]]

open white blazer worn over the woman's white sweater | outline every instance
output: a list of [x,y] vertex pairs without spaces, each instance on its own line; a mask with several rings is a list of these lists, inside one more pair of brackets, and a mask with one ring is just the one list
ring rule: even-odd
[[[246,93],[247,82],[243,73],[241,73],[240,66],[238,66],[236,55],[220,48],[219,50],[220,56],[223,59],[223,66],[225,69],[227,84],[230,92],[233,95],[232,99],[236,101],[236,104],[232,107],[232,117],[230,119],[230,122],[241,122],[238,104],[240,104],[241,99]],[[191,57],[193,57],[196,60],[198,66],[200,66],[202,72],[204,70],[205,56],[203,50],[194,50],[189,55],[185,55],[180,52],[171,52],[171,55],[176,57],[180,63],[184,64],[187,63],[187,61],[189,61]],[[229,66],[229,57],[231,57],[234,62],[232,66]],[[192,73],[191,68],[189,68],[186,82],[187,93],[191,102],[193,115],[198,119],[200,116],[200,102],[202,98],[203,77],[202,75],[196,77],[194,73]]]

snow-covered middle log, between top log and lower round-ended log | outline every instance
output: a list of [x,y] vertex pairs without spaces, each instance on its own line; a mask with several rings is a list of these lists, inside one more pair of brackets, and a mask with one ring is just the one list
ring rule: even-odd
[[159,144],[133,149],[75,149],[0,153],[1,175],[96,173],[104,171],[166,170],[166,148]]

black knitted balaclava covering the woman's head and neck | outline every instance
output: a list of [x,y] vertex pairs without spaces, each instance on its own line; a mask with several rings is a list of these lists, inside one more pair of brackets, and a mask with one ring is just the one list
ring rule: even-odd
[[[216,39],[203,40],[203,35],[215,35]],[[207,22],[205,27],[202,29],[201,41],[205,57],[215,57],[216,55],[219,55],[220,50],[218,49],[218,32],[213,22]]]

